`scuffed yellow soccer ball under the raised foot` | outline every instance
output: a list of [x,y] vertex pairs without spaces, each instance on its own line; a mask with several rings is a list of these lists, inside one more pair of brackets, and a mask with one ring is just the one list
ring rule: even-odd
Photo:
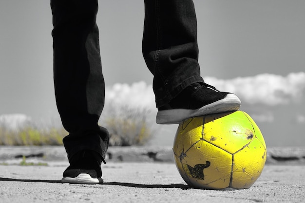
[[184,181],[204,189],[249,188],[267,158],[263,135],[244,111],[185,120],[177,129],[173,153]]

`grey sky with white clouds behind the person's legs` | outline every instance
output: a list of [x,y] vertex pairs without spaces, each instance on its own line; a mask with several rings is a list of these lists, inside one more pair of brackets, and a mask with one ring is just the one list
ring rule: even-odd
[[[305,1],[194,3],[206,82],[241,97],[242,110],[260,126],[267,145],[305,146]],[[0,1],[0,115],[58,117],[49,4]],[[152,75],[141,53],[143,20],[143,0],[99,1],[97,24],[108,94],[114,99],[137,93],[133,104],[146,98],[153,108],[153,95],[147,95]],[[153,144],[171,145],[176,126],[162,128],[156,136],[166,141],[155,139]],[[165,132],[172,134],[164,136]]]

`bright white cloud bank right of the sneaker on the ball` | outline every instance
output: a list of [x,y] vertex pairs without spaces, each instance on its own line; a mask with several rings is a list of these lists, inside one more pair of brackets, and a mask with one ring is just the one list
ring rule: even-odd
[[270,106],[301,102],[305,95],[305,73],[287,76],[258,74],[252,77],[236,77],[229,80],[206,77],[205,81],[220,91],[233,92],[242,102]]

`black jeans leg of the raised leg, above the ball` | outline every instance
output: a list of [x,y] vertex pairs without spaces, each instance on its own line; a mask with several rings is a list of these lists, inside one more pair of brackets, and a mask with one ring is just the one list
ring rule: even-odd
[[145,0],[142,51],[154,75],[157,107],[170,102],[192,83],[203,82],[193,1]]

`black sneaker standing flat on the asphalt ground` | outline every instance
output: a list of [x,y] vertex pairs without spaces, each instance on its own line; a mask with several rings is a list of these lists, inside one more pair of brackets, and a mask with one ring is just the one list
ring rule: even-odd
[[103,183],[101,156],[92,150],[76,153],[70,160],[70,166],[63,172],[62,183],[100,184]]

